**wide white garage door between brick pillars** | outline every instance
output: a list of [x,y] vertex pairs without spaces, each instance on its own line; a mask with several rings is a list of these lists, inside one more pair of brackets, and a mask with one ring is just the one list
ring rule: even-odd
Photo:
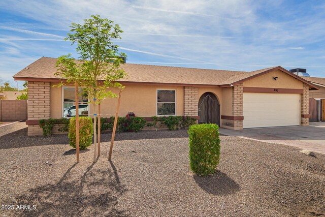
[[245,92],[243,116],[243,128],[300,125],[300,95]]

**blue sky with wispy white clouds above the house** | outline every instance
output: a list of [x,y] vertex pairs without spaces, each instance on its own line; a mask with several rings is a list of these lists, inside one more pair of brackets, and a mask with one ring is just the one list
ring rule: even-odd
[[[253,71],[306,68],[325,77],[325,1],[3,0],[0,78],[42,56],[75,47],[62,39],[72,22],[99,14],[118,23],[127,63]],[[22,82],[19,82],[21,85]]]

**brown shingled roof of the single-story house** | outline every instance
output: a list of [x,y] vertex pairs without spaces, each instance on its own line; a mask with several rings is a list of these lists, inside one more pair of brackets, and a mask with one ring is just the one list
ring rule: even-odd
[[[16,75],[15,80],[44,80],[55,81],[60,79],[55,76],[57,68],[55,67],[57,58],[42,57],[30,64]],[[135,83],[164,83],[164,84],[182,84],[182,85],[220,85],[230,86],[238,82],[253,78],[258,75],[281,70],[296,79],[307,83],[311,88],[315,86],[302,79],[301,77],[290,73],[282,67],[272,67],[252,72],[227,71],[196,69],[169,66],[153,66],[140,64],[124,64],[122,69],[128,75],[127,78],[119,79],[120,82]]]

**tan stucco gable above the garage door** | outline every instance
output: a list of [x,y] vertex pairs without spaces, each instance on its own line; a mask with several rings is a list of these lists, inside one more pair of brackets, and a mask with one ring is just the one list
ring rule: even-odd
[[[278,77],[274,80],[273,77]],[[269,72],[243,82],[244,87],[292,88],[303,89],[303,82],[280,70]]]

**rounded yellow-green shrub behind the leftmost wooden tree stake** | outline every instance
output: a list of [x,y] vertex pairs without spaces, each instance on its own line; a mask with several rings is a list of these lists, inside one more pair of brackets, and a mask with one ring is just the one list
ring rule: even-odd
[[[91,117],[79,117],[79,148],[86,149],[92,143]],[[70,118],[69,135],[70,146],[76,148],[76,117]]]

